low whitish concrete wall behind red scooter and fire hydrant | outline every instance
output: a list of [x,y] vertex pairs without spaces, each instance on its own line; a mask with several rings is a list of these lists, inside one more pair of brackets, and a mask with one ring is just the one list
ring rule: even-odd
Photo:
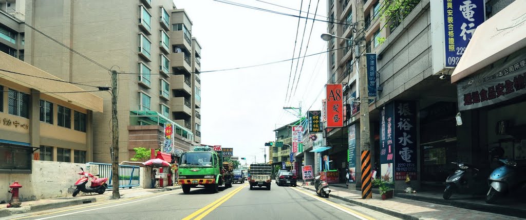
[[33,160],[32,167],[32,174],[0,174],[0,201],[11,199],[11,194],[7,191],[13,182],[22,185],[19,194],[22,201],[71,196],[75,190],[73,185],[79,179],[77,173],[80,172],[81,167],[94,175],[98,174],[99,169],[93,164],[89,165],[88,169],[83,163],[38,160]]

